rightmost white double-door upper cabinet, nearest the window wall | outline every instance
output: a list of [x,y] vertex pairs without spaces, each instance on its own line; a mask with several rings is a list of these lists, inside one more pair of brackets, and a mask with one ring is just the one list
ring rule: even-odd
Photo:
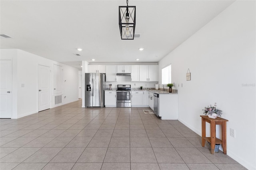
[[140,81],[158,81],[157,65],[140,65]]

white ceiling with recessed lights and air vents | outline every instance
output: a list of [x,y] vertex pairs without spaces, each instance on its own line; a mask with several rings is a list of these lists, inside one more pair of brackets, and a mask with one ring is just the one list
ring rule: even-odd
[[1,38],[0,48],[22,49],[78,68],[83,60],[156,63],[233,2],[130,0],[136,6],[135,33],[141,36],[121,40],[118,6],[126,6],[126,0],[1,0],[0,34],[12,38]]

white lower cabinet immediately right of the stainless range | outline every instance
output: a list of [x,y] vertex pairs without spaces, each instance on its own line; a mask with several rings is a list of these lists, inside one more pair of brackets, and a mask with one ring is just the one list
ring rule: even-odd
[[147,107],[147,91],[132,91],[132,107]]

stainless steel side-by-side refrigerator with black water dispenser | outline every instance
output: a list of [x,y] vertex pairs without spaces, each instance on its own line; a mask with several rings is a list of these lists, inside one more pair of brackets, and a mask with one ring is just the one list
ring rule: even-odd
[[104,107],[105,74],[85,73],[85,107]]

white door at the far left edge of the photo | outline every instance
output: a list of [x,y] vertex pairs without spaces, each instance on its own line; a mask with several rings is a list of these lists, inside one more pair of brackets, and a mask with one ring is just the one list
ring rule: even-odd
[[12,118],[11,60],[0,60],[0,118]]

